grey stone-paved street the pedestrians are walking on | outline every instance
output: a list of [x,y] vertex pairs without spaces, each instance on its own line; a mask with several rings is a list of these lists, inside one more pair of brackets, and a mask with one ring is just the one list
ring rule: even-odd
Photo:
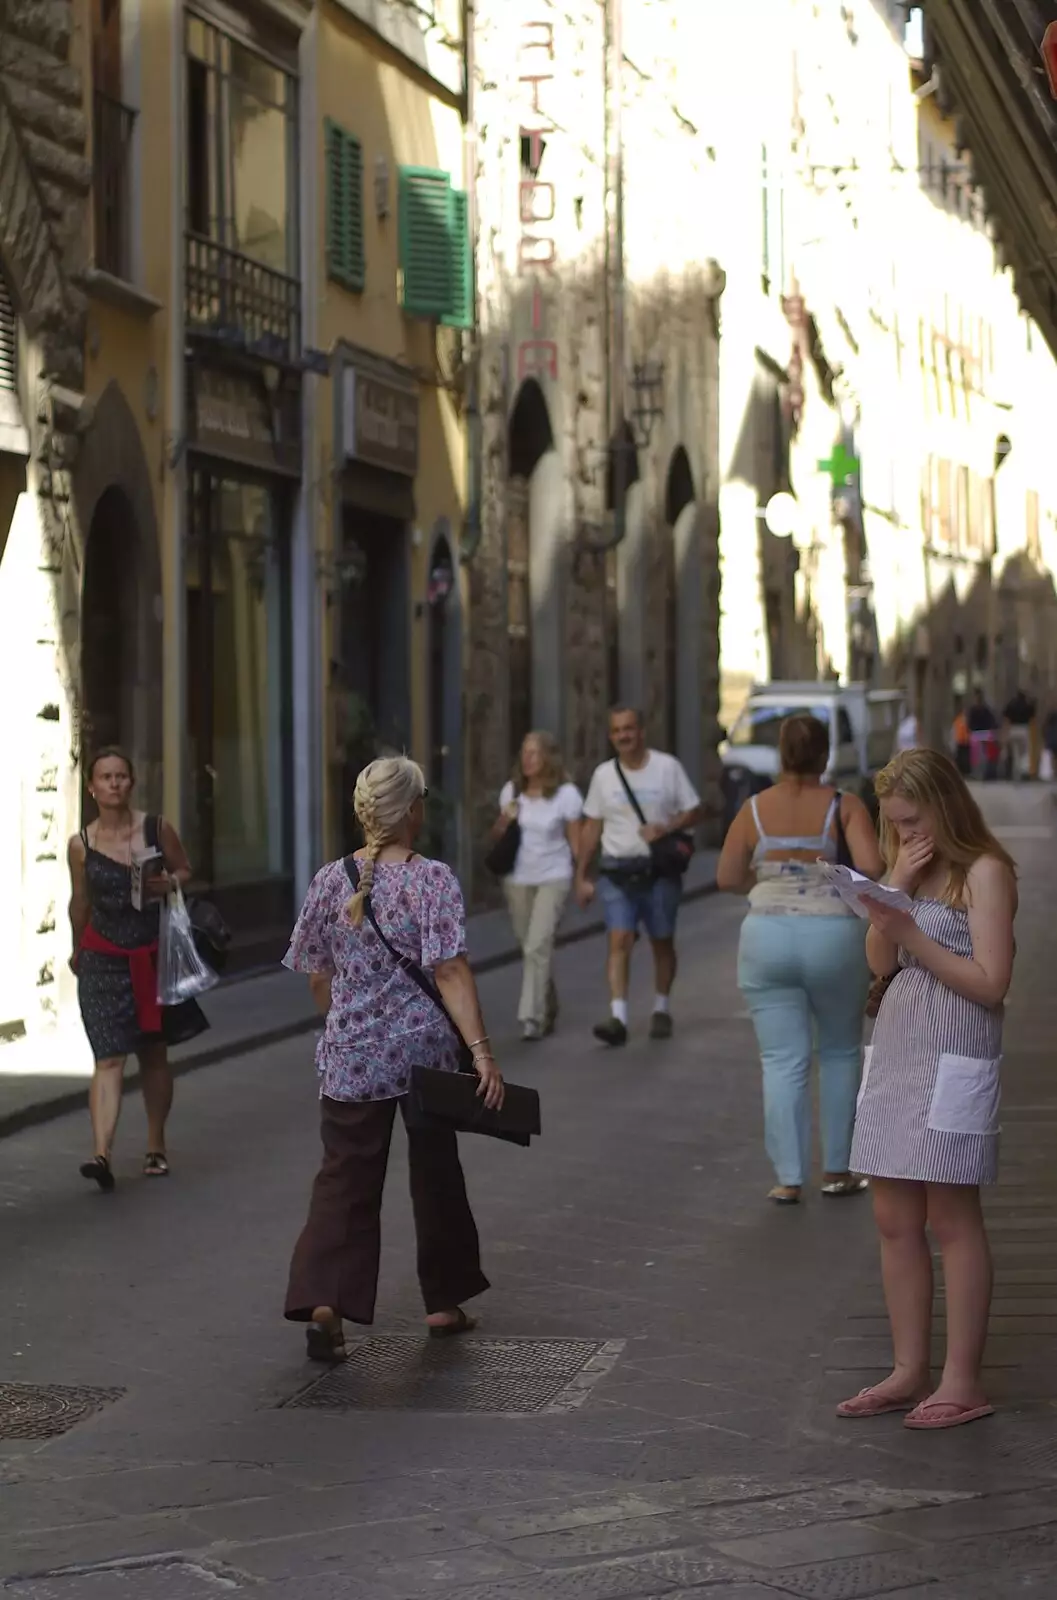
[[[27,1397],[0,1389],[5,1592],[1055,1594],[1057,813],[1041,787],[995,787],[987,805],[1022,867],[988,1197],[993,1419],[915,1435],[900,1418],[835,1418],[887,1358],[868,1200],[764,1203],[742,907],[712,898],[684,912],[672,1043],[644,1038],[641,952],[624,1053],[590,1037],[596,938],[561,952],[544,1045],[513,1043],[515,970],[483,978],[504,1070],[540,1088],[545,1134],[529,1152],[464,1141],[494,1290],[480,1334],[437,1352],[419,1341],[395,1142],[379,1344],[326,1379],[360,1408],[289,1403],[321,1397],[281,1320],[317,1160],[309,1038],[179,1082],[170,1182],[136,1176],[131,1098],[114,1197],[77,1176],[85,1114],[3,1141],[0,1386],[104,1392],[40,1395],[48,1418],[62,1398],[96,1410],[3,1438]],[[50,1424],[26,1411],[24,1426]]]

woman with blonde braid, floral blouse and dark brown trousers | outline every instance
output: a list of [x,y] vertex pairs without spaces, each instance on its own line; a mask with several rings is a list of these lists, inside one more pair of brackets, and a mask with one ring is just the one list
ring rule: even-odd
[[[360,773],[353,803],[365,848],[355,856],[357,888],[344,861],[323,867],[286,955],[286,966],[309,974],[326,1018],[315,1058],[323,1165],[286,1291],[286,1318],[309,1323],[307,1354],[317,1362],[344,1360],[344,1320],[374,1320],[385,1165],[411,1069],[454,1072],[459,1064],[448,1018],[387,946],[432,973],[473,1053],[485,1104],[502,1106],[502,1077],[465,957],[459,883],[451,867],[414,851],[424,802],[414,762],[392,757]],[[473,1328],[462,1302],[481,1294],[488,1278],[456,1134],[406,1131],[425,1322],[430,1338],[443,1339]]]

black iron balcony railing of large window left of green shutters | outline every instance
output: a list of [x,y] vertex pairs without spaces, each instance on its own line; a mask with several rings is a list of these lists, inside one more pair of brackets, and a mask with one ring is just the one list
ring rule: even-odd
[[189,333],[205,333],[275,362],[301,352],[301,283],[198,234],[185,235]]

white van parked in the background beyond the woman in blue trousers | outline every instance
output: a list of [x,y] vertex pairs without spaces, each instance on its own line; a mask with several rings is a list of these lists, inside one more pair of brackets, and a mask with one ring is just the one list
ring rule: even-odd
[[830,730],[827,782],[856,794],[876,814],[873,778],[892,758],[903,718],[900,690],[865,683],[758,683],[720,746],[724,832],[745,800],[779,776],[779,730],[795,712],[809,712]]

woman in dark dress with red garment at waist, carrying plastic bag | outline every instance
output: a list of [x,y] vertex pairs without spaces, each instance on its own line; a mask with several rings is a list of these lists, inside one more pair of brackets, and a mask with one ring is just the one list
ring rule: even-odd
[[[162,818],[131,810],[134,773],[123,750],[99,750],[88,768],[88,792],[99,818],[70,838],[70,925],[77,997],[96,1070],[88,1104],[94,1155],[82,1176],[99,1189],[114,1189],[110,1149],[122,1112],[125,1059],[139,1058],[147,1110],[149,1178],[168,1176],[165,1123],[173,1104],[165,1013],[157,1003],[155,955],[158,910],[173,885],[184,885],[190,866],[176,830]],[[133,856],[160,850],[165,870],[147,883],[150,904],[136,910],[131,899]],[[181,1013],[181,1038],[208,1027],[189,1002]]]

